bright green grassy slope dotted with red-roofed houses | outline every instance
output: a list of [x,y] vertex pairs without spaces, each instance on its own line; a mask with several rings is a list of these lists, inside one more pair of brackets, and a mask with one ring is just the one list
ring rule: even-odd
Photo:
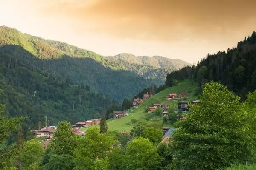
[[[138,108],[130,109],[130,114],[126,117],[119,118],[119,119],[108,119],[108,129],[109,130],[119,130],[123,132],[128,132],[130,129],[135,125],[131,122],[131,119],[137,119],[138,121],[147,119],[148,121],[154,121],[154,122],[162,122],[162,117],[155,116],[153,113],[145,113],[144,109],[148,108],[152,105],[152,103],[160,103],[160,104],[168,104],[171,108],[177,108],[178,102],[177,101],[166,101],[165,97],[168,96],[171,93],[179,93],[186,91],[188,92],[188,100],[192,101],[197,99],[198,96],[194,96],[194,92],[197,88],[196,83],[192,83],[188,80],[180,82],[179,85],[166,88],[163,91],[160,91],[159,93],[152,96],[150,99],[145,100],[145,102],[141,103]],[[168,124],[164,124],[168,125]],[[171,125],[168,125],[171,126]],[[94,125],[93,127],[99,127],[99,125]],[[81,129],[81,131],[86,131],[87,128]]]

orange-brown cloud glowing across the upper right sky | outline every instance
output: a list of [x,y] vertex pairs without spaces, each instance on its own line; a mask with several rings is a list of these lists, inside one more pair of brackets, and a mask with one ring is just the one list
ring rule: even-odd
[[49,0],[40,13],[65,18],[76,31],[174,42],[252,31],[255,6],[255,0]]

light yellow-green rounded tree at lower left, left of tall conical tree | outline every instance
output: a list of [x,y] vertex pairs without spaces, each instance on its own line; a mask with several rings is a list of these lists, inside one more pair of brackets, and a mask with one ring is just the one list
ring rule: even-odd
[[44,149],[37,140],[25,142],[21,155],[22,167],[29,167],[32,164],[40,163],[43,157]]

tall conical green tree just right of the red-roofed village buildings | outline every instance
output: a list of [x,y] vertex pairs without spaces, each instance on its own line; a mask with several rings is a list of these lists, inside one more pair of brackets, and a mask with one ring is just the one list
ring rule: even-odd
[[52,154],[73,155],[73,151],[76,147],[77,135],[71,131],[71,128],[71,124],[66,120],[58,123],[57,130],[51,142]]

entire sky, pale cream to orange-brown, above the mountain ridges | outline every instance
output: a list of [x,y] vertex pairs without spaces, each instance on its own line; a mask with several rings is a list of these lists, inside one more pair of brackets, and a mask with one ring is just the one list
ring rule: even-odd
[[256,0],[0,0],[0,25],[109,56],[196,63],[256,31]]

